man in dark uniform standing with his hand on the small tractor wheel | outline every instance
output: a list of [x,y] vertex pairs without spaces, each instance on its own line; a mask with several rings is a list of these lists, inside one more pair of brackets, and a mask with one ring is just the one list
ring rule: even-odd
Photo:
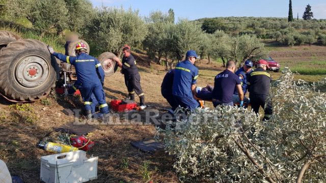
[[134,100],[134,93],[136,93],[139,97],[140,106],[145,106],[145,95],[141,86],[141,76],[139,75],[137,62],[134,57],[131,55],[130,47],[125,45],[122,49],[123,58],[122,62],[118,57],[114,57],[121,68],[121,73],[124,75],[124,82],[127,86],[129,99]]

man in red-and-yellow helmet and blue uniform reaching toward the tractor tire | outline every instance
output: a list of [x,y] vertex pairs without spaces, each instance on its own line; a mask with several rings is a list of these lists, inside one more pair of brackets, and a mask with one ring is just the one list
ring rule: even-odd
[[[56,53],[52,47],[48,46],[49,52],[60,59],[75,66],[77,81],[80,83],[80,93],[84,99],[84,107],[88,118],[92,117],[91,95],[94,93],[95,98],[99,102],[100,112],[102,114],[108,113],[108,106],[105,101],[105,93],[103,90],[104,71],[100,62],[93,56],[86,53],[87,48],[84,43],[76,45],[77,56],[66,56],[61,53]],[[100,79],[98,78],[100,75]]]

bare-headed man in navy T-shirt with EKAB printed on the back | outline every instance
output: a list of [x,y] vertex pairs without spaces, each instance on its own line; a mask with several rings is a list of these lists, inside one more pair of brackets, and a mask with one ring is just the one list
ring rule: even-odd
[[214,107],[218,105],[233,106],[232,98],[234,88],[237,89],[240,99],[240,107],[243,106],[243,92],[241,88],[241,81],[239,76],[234,74],[235,71],[234,61],[228,61],[226,70],[215,76],[214,88],[212,92],[212,101]]

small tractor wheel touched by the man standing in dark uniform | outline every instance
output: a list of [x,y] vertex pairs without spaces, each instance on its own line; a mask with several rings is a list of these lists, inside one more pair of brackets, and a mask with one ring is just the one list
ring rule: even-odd
[[118,64],[112,59],[114,57],[117,56],[111,52],[104,52],[98,56],[98,60],[102,65],[105,76],[113,75],[118,69]]

